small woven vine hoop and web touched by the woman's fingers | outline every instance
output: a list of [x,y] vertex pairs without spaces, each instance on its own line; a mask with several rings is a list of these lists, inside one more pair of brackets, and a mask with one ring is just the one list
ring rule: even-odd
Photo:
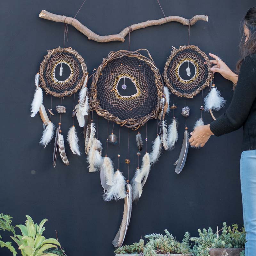
[[[204,64],[206,62],[206,64]],[[182,65],[193,68],[194,74],[181,77]],[[172,93],[180,97],[193,98],[212,81],[211,62],[207,55],[195,45],[180,46],[173,48],[171,55],[164,66],[164,82]]]

